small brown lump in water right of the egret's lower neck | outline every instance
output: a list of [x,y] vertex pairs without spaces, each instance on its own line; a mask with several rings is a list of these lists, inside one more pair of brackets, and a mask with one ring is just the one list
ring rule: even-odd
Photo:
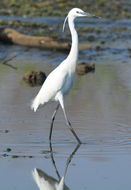
[[93,62],[89,62],[89,63],[81,62],[81,63],[78,63],[76,71],[77,71],[78,75],[85,75],[86,73],[94,72],[95,71],[95,64]]

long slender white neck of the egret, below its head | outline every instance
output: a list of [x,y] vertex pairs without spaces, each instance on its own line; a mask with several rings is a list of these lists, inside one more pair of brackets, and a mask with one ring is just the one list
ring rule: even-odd
[[69,24],[69,29],[71,32],[72,45],[71,45],[71,50],[67,59],[71,60],[72,64],[76,66],[77,59],[78,59],[78,35],[75,29],[73,17],[70,17],[70,16],[68,17],[68,24]]

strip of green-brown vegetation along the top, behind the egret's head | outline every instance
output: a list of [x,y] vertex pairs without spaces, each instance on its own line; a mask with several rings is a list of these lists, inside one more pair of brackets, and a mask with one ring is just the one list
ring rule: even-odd
[[1,0],[1,15],[64,16],[73,7],[104,18],[131,18],[129,0]]

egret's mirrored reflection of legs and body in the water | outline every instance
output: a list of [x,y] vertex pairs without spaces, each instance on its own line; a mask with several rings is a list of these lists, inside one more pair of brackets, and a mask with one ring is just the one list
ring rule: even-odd
[[67,173],[67,169],[69,164],[71,163],[71,160],[77,150],[79,149],[80,144],[78,144],[73,152],[70,154],[70,156],[67,158],[66,164],[65,164],[65,169],[64,169],[64,174],[61,177],[59,174],[59,171],[56,167],[56,163],[54,160],[53,156],[53,149],[52,149],[52,144],[50,142],[50,155],[51,155],[51,161],[53,164],[53,167],[55,168],[55,172],[58,176],[58,179],[53,178],[52,176],[49,176],[47,173],[42,171],[41,169],[35,168],[32,172],[33,178],[38,185],[40,190],[69,190],[69,188],[65,185],[65,176]]

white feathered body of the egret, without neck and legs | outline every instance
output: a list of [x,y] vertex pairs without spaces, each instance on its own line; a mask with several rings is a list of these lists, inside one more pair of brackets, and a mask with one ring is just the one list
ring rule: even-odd
[[32,102],[32,109],[36,111],[39,105],[44,105],[49,101],[59,101],[59,93],[65,95],[71,88],[72,77],[69,75],[67,64],[64,61],[48,75],[39,93]]

